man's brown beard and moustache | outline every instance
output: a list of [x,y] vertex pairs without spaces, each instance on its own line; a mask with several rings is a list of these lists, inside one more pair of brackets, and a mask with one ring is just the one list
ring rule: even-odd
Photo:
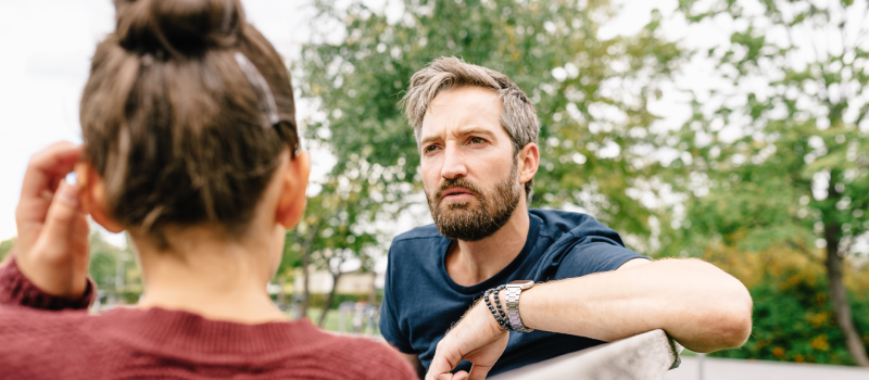
[[[518,163],[514,162],[509,176],[495,183],[491,193],[483,192],[477,185],[463,177],[443,181],[433,195],[426,195],[438,231],[450,239],[464,241],[478,241],[495,233],[507,224],[516,205],[519,204],[521,185],[518,177]],[[443,191],[456,187],[475,192],[478,204],[474,205],[473,200],[450,202],[446,210],[442,210]]]

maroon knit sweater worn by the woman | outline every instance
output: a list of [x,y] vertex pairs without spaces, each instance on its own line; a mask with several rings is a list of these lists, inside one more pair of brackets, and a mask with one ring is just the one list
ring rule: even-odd
[[163,308],[88,315],[0,267],[0,379],[417,379],[381,343],[307,319],[243,325]]

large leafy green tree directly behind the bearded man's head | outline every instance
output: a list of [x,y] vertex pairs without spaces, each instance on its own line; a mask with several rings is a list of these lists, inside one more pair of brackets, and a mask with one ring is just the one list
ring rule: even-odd
[[297,86],[316,107],[307,137],[337,159],[330,178],[367,180],[360,197],[380,205],[375,217],[423,201],[416,141],[396,103],[413,73],[457,55],[509,75],[534,102],[542,161],[533,206],[577,205],[633,249],[654,248],[650,216],[666,210],[641,202],[662,183],[647,104],[683,58],[659,38],[657,13],[635,36],[599,38],[615,12],[606,1],[406,0],[395,16],[362,1],[316,7],[313,25],[344,34],[302,49]]

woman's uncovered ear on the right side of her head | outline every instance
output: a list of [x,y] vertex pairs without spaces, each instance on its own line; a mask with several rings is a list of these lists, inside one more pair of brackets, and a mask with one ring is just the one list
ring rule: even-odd
[[278,199],[276,219],[284,228],[292,229],[299,224],[307,204],[307,180],[311,174],[311,156],[299,152],[290,159],[289,165],[277,175],[281,178],[281,192]]

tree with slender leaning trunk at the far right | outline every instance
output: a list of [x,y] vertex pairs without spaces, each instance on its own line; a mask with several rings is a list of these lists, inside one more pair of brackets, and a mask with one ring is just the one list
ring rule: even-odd
[[681,244],[822,250],[848,352],[869,366],[843,283],[851,245],[869,230],[866,1],[682,0],[680,10],[735,26],[708,50],[732,87],[697,94],[679,132],[691,168],[675,182],[693,191],[694,226]]

